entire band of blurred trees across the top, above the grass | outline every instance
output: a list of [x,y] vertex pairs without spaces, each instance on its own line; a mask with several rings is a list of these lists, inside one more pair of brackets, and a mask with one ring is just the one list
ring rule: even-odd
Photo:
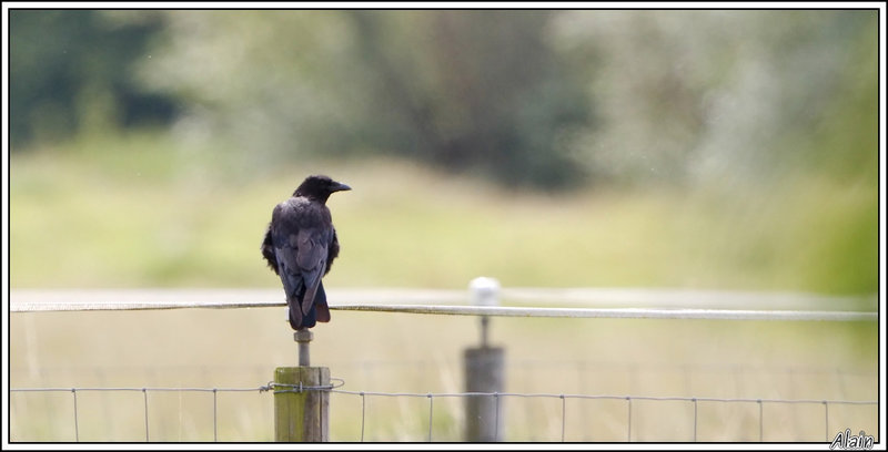
[[12,11],[12,137],[175,121],[268,165],[390,154],[536,186],[722,177],[728,166],[871,176],[876,19]]

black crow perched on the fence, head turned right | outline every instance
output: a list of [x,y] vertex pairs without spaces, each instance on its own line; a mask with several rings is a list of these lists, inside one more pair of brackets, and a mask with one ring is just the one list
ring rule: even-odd
[[327,176],[309,176],[290,199],[278,204],[262,240],[262,257],[281,277],[294,330],[330,321],[321,277],[340,254],[326,199],[352,189]]

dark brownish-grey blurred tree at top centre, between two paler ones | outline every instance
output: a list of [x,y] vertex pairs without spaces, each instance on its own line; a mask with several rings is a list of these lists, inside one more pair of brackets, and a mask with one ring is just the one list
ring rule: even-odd
[[376,75],[383,145],[506,184],[559,187],[582,175],[559,140],[586,125],[581,80],[545,42],[546,11],[350,14]]

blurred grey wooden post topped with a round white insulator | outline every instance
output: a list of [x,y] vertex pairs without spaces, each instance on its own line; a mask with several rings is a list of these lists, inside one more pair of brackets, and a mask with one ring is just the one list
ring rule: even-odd
[[[500,304],[500,281],[475,278],[470,284],[475,306]],[[487,316],[481,318],[481,347],[467,348],[463,355],[465,391],[492,396],[465,398],[465,440],[467,442],[495,442],[503,440],[503,400],[498,396],[505,387],[503,363],[505,350],[487,345]]]

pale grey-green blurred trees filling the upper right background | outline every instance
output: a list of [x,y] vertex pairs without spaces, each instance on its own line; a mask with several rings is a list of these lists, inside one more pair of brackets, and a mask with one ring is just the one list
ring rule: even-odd
[[594,174],[733,185],[847,161],[871,174],[876,10],[564,11],[555,22],[555,45],[598,69],[599,126],[579,147]]

